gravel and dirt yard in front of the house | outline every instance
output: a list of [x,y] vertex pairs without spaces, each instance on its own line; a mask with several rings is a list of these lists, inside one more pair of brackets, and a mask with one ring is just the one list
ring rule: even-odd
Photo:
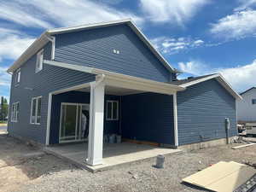
[[219,160],[256,163],[256,145],[236,150],[229,145],[166,156],[164,169],[154,168],[155,160],[144,160],[90,173],[12,137],[0,136],[0,146],[3,192],[201,191],[181,183],[182,178]]

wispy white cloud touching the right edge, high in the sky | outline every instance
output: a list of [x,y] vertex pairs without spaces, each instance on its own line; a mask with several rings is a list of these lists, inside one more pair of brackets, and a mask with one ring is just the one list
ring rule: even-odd
[[219,38],[240,39],[256,33],[256,10],[243,10],[227,15],[212,24],[210,30]]

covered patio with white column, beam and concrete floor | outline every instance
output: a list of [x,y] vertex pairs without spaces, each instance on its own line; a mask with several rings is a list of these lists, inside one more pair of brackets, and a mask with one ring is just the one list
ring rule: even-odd
[[[177,103],[176,93],[183,88],[147,79],[138,79],[118,73],[96,75],[94,82],[80,84],[49,94],[49,117],[46,143],[52,138],[61,138],[61,130],[55,135],[51,131],[61,128],[60,119],[53,120],[60,108],[53,108],[55,96],[73,91],[87,93],[85,97],[90,110],[89,135],[79,144],[61,144],[46,148],[48,152],[73,160],[91,171],[134,160],[143,160],[157,154],[177,152]],[[74,92],[75,91],[75,92]],[[108,106],[106,99],[114,97],[119,102],[115,126],[123,138],[134,141],[146,141],[156,146],[136,143],[103,143],[104,132],[108,129]],[[57,100],[58,101],[58,100]],[[60,101],[58,101],[60,102]],[[53,105],[53,107],[52,107]],[[82,108],[81,104],[81,107]],[[77,106],[78,110],[79,106]],[[61,105],[62,108],[62,105]],[[104,109],[105,108],[105,109]],[[58,115],[57,115],[58,116]],[[52,119],[52,120],[51,120]],[[79,119],[79,118],[77,118]],[[107,120],[106,120],[107,119]],[[78,125],[78,123],[76,123]],[[77,131],[76,131],[77,132]],[[68,141],[67,141],[68,142]],[[81,140],[82,142],[82,140]],[[168,148],[160,148],[165,146]]]

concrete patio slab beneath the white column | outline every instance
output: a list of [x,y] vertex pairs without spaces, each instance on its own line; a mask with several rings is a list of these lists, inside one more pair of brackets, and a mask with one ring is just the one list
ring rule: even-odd
[[173,154],[181,151],[180,149],[160,148],[136,143],[104,143],[103,164],[100,166],[89,166],[85,163],[87,150],[87,143],[56,145],[44,148],[46,153],[69,160],[74,165],[87,169],[90,172],[98,172],[112,166],[154,158],[158,154]]

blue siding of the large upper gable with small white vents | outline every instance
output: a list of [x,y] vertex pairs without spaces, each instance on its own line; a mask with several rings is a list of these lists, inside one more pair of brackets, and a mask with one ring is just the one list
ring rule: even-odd
[[[119,55],[113,49],[119,49]],[[160,82],[172,79],[166,67],[125,24],[56,35],[55,61]]]

